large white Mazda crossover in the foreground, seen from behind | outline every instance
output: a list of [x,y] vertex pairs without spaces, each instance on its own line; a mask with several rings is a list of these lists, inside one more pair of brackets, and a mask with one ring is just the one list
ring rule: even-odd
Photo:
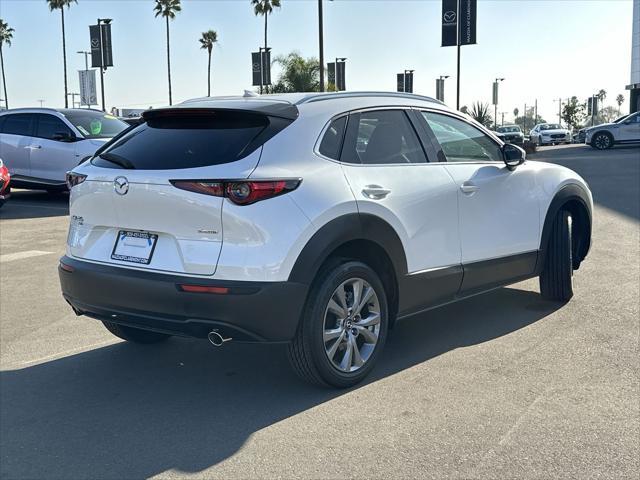
[[70,172],[59,268],[74,311],[129,341],[287,342],[302,377],[347,387],[399,319],[537,276],[567,301],[589,251],[582,178],[430,98],[209,98],[144,120]]

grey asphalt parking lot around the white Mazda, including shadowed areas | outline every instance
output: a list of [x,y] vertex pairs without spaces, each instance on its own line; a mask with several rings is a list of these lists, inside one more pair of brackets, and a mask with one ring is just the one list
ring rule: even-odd
[[301,383],[282,346],[135,346],[59,293],[67,197],[0,210],[0,476],[640,475],[640,149],[546,147],[596,202],[576,295],[537,281],[400,323],[369,381]]

